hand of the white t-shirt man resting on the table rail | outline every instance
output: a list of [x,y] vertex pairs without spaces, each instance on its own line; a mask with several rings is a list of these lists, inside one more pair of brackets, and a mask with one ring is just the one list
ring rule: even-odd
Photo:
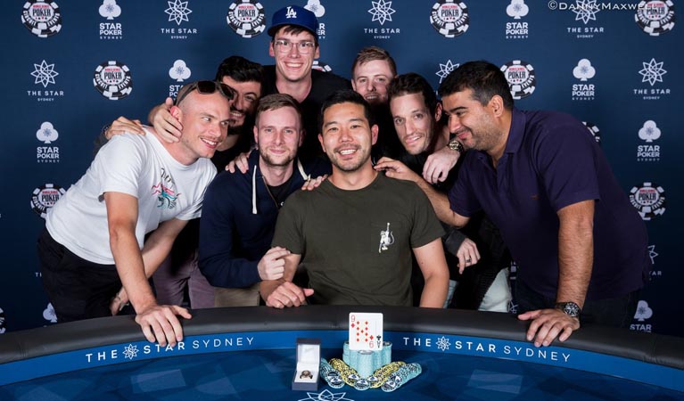
[[150,341],[159,341],[161,347],[167,344],[175,347],[177,341],[183,340],[183,327],[176,315],[192,319],[185,307],[176,305],[152,305],[136,315],[136,323],[143,329],[144,337]]

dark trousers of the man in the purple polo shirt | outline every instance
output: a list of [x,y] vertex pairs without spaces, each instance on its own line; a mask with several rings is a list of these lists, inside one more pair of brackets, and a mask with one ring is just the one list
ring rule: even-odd
[[[587,299],[581,310],[580,322],[629,327],[637,312],[640,293],[641,290],[637,290],[617,298]],[[515,302],[518,314],[556,306],[556,299],[546,298],[518,280],[515,281]]]

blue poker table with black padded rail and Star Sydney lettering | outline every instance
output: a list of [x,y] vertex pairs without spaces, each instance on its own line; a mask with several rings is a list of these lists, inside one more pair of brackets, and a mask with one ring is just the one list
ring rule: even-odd
[[[297,339],[342,358],[350,312],[382,313],[392,361],[422,373],[393,392],[293,391]],[[684,339],[651,333],[585,326],[534,348],[513,315],[412,307],[214,308],[183,326],[173,348],[132,316],[5,333],[0,399],[684,399]]]

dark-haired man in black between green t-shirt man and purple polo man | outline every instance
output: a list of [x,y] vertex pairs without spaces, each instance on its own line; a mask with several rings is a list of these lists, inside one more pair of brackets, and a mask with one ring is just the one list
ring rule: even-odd
[[[375,169],[385,170],[393,178],[415,182],[434,204],[448,202],[447,192],[456,181],[457,168],[449,171],[444,182],[435,184],[427,183],[420,176],[425,161],[435,151],[448,149],[457,156],[463,151],[458,148],[460,143],[449,143],[449,127],[441,124],[441,103],[432,86],[425,78],[410,72],[394,78],[387,93],[394,127],[406,152],[399,160],[379,160]],[[470,238],[453,226],[445,225],[445,229],[449,236],[443,238],[444,248],[454,280],[450,282],[450,289],[457,284],[451,306],[507,312],[511,300],[505,269],[507,250],[497,227],[481,213],[464,227]],[[457,266],[467,267],[464,274],[458,274]]]

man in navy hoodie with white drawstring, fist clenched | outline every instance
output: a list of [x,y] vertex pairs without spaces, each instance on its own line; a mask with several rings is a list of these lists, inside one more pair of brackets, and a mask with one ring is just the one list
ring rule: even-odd
[[257,284],[283,275],[287,250],[269,250],[279,209],[309,176],[330,172],[325,160],[297,159],[301,110],[289,94],[261,98],[253,137],[248,172],[220,173],[204,198],[199,262],[219,307],[259,305]]

